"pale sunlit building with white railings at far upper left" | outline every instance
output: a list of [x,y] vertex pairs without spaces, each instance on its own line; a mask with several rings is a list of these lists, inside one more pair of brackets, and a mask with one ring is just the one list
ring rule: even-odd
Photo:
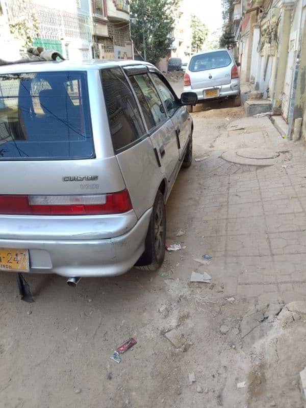
[[[51,5],[49,0],[10,0],[3,8],[8,23],[27,22],[32,45],[55,48],[66,58],[90,58],[91,16],[87,0],[54,0]],[[12,49],[25,53],[24,38],[17,39],[10,33],[10,42]]]

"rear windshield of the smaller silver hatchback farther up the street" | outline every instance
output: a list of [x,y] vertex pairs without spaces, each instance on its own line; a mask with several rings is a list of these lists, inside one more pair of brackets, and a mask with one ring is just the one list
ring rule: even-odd
[[199,54],[191,58],[189,70],[192,72],[205,71],[207,69],[222,68],[230,65],[232,59],[226,51]]

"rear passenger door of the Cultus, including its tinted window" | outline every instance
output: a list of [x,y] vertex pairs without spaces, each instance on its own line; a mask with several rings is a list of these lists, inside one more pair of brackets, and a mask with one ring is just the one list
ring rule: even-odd
[[129,74],[149,131],[156,159],[161,170],[166,174],[169,187],[174,183],[175,173],[179,165],[179,148],[173,122],[168,117],[164,104],[146,73]]

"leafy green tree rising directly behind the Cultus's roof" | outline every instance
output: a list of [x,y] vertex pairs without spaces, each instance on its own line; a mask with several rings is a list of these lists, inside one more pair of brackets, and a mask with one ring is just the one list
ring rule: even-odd
[[136,50],[156,65],[173,42],[174,12],[178,0],[133,0],[131,35]]

